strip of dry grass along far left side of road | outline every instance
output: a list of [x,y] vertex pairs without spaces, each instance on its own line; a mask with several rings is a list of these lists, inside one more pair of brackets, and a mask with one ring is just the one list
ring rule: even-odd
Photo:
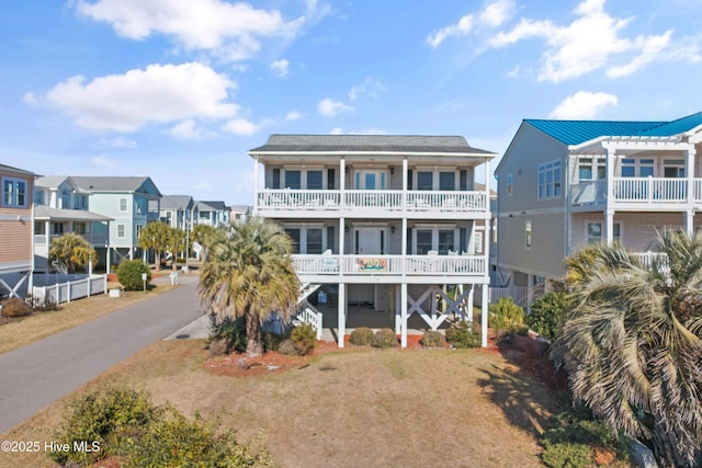
[[100,294],[61,304],[58,310],[35,312],[29,317],[0,324],[0,354],[106,316],[171,288],[170,285],[158,285],[152,286],[146,294],[123,292],[122,297],[109,297],[106,294]]

